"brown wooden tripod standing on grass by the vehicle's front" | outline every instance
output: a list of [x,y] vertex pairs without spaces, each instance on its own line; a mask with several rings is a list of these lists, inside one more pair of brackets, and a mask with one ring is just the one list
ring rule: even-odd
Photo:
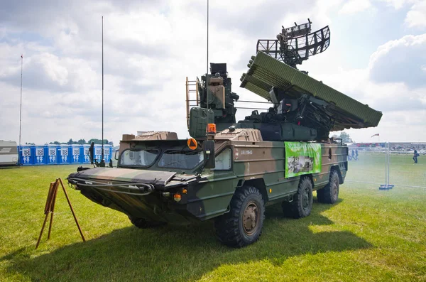
[[46,199],[46,205],[45,205],[45,220],[43,222],[43,227],[41,227],[40,236],[38,237],[37,244],[35,245],[35,249],[37,249],[38,244],[40,244],[40,239],[41,239],[41,236],[43,235],[43,230],[48,220],[49,214],[50,214],[50,224],[49,224],[48,239],[50,239],[50,231],[52,230],[52,224],[53,224],[53,214],[55,211],[56,194],[58,193],[59,185],[62,186],[62,190],[65,193],[65,197],[67,197],[68,205],[70,205],[72,216],[75,219],[75,224],[77,224],[78,231],[80,231],[80,235],[82,235],[83,242],[86,242],[86,239],[84,239],[84,236],[82,233],[82,229],[80,228],[80,224],[78,224],[77,217],[75,217],[74,210],[72,209],[70,198],[68,198],[68,194],[67,194],[67,191],[65,190],[64,183],[62,183],[61,178],[58,178],[55,180],[55,182],[50,183],[48,198]]

